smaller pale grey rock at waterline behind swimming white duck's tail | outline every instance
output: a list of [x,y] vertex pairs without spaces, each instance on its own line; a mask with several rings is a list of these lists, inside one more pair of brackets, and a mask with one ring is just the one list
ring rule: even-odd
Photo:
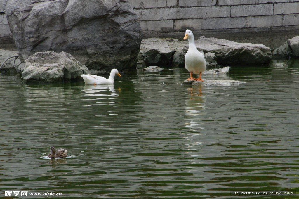
[[82,80],[80,75],[89,73],[86,66],[66,52],[37,52],[20,67],[25,83]]

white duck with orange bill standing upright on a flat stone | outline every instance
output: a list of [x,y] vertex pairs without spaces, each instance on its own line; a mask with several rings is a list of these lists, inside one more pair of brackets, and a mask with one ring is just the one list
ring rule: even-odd
[[[192,31],[186,30],[184,40],[187,38],[189,40],[189,49],[185,55],[185,68],[190,72],[190,78],[187,80],[204,81],[201,77],[202,72],[204,72],[207,67],[205,57],[197,50]],[[193,78],[192,73],[199,74],[199,78]]]

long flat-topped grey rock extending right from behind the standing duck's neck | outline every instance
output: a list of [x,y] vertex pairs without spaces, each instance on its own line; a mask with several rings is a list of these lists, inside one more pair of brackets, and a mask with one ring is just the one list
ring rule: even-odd
[[[196,48],[204,53],[215,53],[217,63],[225,64],[265,64],[272,57],[271,49],[262,44],[238,43],[217,38],[200,38]],[[183,48],[187,52],[188,45]]]

